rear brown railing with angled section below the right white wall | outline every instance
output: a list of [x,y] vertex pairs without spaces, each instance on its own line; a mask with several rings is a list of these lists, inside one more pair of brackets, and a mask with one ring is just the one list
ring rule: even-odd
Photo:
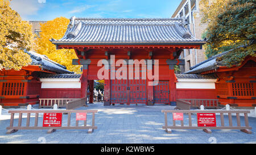
[[[189,106],[190,103],[190,106]],[[190,108],[218,108],[218,99],[177,99],[176,108],[190,110]]]

